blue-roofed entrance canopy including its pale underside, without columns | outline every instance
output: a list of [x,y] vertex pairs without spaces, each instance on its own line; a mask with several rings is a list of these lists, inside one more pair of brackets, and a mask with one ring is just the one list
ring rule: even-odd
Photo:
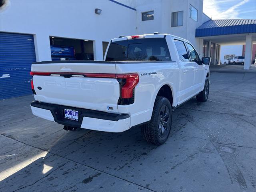
[[244,44],[249,34],[256,42],[256,20],[209,20],[196,28],[196,37],[218,44]]

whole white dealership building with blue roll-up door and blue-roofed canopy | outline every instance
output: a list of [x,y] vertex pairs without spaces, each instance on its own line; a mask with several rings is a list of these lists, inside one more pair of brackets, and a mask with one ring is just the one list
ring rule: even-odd
[[32,62],[103,60],[118,36],[154,32],[192,42],[220,62],[224,44],[244,44],[249,69],[256,20],[211,20],[203,0],[7,0],[0,9],[0,100],[31,94]]

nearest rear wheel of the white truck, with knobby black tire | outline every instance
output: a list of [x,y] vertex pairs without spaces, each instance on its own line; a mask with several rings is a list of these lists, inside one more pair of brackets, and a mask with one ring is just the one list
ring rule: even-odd
[[140,126],[144,139],[157,146],[168,139],[172,126],[172,106],[165,97],[156,97],[151,120]]

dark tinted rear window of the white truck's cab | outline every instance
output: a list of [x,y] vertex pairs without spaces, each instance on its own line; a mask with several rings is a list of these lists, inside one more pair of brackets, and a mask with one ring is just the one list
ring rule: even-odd
[[140,38],[112,42],[106,61],[170,61],[165,38]]

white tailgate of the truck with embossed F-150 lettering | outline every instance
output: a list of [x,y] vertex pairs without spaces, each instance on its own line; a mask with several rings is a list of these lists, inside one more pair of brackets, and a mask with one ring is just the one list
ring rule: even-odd
[[[115,74],[114,63],[52,62],[33,64],[32,72],[35,72],[33,76],[35,100],[78,108],[118,112],[117,103],[120,96],[118,81],[111,76],[101,78],[98,75]],[[98,76],[87,77],[86,73]]]

